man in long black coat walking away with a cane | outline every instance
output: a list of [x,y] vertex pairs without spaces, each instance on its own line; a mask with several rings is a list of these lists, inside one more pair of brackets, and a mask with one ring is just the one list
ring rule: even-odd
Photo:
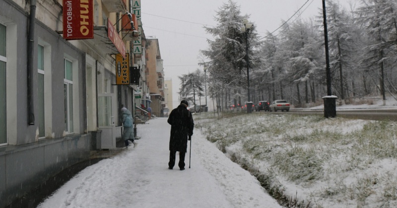
[[195,123],[192,113],[187,109],[188,102],[183,100],[181,104],[173,109],[168,117],[167,122],[171,125],[170,136],[170,161],[168,169],[172,169],[175,165],[175,155],[179,152],[178,166],[181,170],[185,169],[185,155],[188,149],[189,136],[193,135]]

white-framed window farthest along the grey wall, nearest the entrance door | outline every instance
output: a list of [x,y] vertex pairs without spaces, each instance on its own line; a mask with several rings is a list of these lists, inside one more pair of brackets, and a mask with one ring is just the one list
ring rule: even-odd
[[73,133],[73,64],[66,58],[64,59],[64,63],[65,131],[67,133]]

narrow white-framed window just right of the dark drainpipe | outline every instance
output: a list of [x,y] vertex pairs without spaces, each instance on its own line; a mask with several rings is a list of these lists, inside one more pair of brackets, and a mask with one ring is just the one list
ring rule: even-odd
[[44,46],[37,47],[37,125],[39,126],[39,138],[45,137],[45,117],[44,117]]

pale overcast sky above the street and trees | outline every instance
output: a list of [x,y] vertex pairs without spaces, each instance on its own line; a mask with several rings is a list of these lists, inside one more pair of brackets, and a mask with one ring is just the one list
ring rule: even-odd
[[[281,20],[288,20],[300,9],[303,19],[321,15],[322,0],[234,0],[241,14],[250,14],[260,37],[273,32]],[[342,0],[343,4],[349,0]],[[356,2],[358,0],[353,0]],[[179,104],[178,76],[202,70],[198,65],[199,50],[207,49],[203,25],[216,26],[216,11],[228,0],[141,0],[141,21],[146,38],[159,40],[164,75],[172,79],[173,108]],[[293,16],[289,22],[298,17]],[[276,31],[274,34],[277,34]],[[202,99],[204,100],[204,99]],[[209,102],[209,101],[208,101]],[[202,103],[203,104],[203,103]],[[209,104],[208,104],[209,105]]]

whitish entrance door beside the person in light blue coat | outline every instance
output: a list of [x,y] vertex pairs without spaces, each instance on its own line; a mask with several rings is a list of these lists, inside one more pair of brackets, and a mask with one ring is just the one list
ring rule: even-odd
[[121,126],[116,127],[116,95],[98,94],[98,123],[101,133],[101,149],[115,149],[116,137],[121,135]]

